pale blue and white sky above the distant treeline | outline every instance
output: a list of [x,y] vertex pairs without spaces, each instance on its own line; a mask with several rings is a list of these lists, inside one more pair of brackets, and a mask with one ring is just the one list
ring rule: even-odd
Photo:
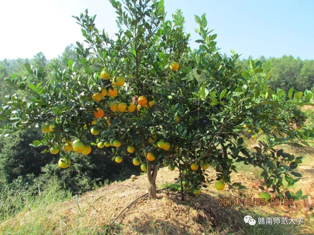
[[[68,44],[84,40],[78,16],[86,8],[97,14],[96,27],[111,36],[116,32],[116,13],[106,0],[1,1],[0,60],[32,58],[42,51],[47,59],[61,55]],[[218,34],[221,53],[232,48],[241,58],[299,56],[314,59],[314,1],[213,1],[165,0],[167,17],[183,11],[191,47],[198,34],[194,14],[206,13],[208,27]]]

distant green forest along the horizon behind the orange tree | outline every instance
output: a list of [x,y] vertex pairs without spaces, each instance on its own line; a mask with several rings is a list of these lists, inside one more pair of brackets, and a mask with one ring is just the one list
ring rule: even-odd
[[[239,64],[248,66],[250,59],[254,60],[252,57],[239,59]],[[45,55],[39,52],[32,59],[19,58],[0,61],[0,102],[2,103],[2,97],[5,95],[19,93],[19,91],[15,91],[12,87],[8,86],[4,78],[10,77],[12,74],[17,74],[21,77],[26,76],[27,71],[24,67],[26,62],[33,65],[34,68],[43,67],[47,72],[47,79],[49,79],[52,76],[51,71],[54,70],[53,67],[65,68],[68,60],[77,62],[76,49],[73,44],[68,45],[62,55],[52,60],[47,60]],[[301,60],[299,57],[294,58],[291,55],[283,55],[281,58],[260,56],[255,60],[260,60],[262,65],[268,60],[271,61],[273,72],[269,80],[269,85],[274,91],[277,88],[281,88],[288,92],[291,87],[294,87],[297,91],[304,91],[305,89],[314,91],[314,60]]]

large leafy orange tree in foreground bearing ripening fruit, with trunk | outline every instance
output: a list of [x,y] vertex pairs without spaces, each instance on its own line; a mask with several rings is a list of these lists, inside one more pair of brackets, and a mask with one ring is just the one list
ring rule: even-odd
[[[250,130],[250,138],[255,138],[261,128],[276,124],[262,113],[265,107],[282,107],[292,102],[293,94],[311,102],[313,94],[304,97],[292,89],[285,101],[283,90],[268,87],[269,62],[262,67],[250,61],[249,68],[242,68],[236,65],[235,52],[222,58],[216,34],[206,29],[205,14],[195,16],[200,46],[192,51],[180,10],[165,20],[163,0],[110,2],[117,13],[115,39],[96,28],[95,16],[87,10],[75,17],[86,38],[85,47],[77,43],[80,70],[68,60],[65,70],[54,67],[53,79],[43,82],[46,72],[25,64],[31,80],[17,75],[6,79],[32,99],[6,97],[1,112],[7,125],[2,135],[41,126],[46,135],[33,144],[48,146],[46,151],[61,155],[59,166],[72,170],[72,150],[84,155],[95,145],[111,148],[110,157],[117,163],[129,152],[134,165],[146,171],[152,198],[162,165],[169,165],[169,170],[179,167],[181,187],[199,194],[208,165],[217,171],[218,190],[225,183],[243,187],[230,181],[234,162],[239,161],[262,168],[261,189],[266,186],[283,196],[283,181],[292,185],[300,179],[294,169],[301,157],[274,147],[287,142],[308,145],[313,130],[275,129],[267,140],[258,141],[253,152],[243,145],[243,133]],[[199,84],[193,74],[203,76],[203,81]],[[86,137],[88,132],[96,136],[95,142]],[[301,193],[285,191],[285,196],[300,198]]]

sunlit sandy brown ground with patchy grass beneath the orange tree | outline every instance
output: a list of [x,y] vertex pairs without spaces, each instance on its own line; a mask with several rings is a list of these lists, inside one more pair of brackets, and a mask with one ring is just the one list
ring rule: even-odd
[[[257,139],[263,138],[262,135]],[[255,140],[247,140],[253,147]],[[114,224],[108,226],[131,201],[147,192],[147,175],[136,176],[123,182],[114,182],[77,198],[65,197],[62,201],[35,204],[0,224],[0,232],[31,233],[45,231],[52,234],[311,234],[314,227],[314,148],[280,146],[291,154],[303,155],[300,164],[302,179],[291,190],[302,189],[309,199],[295,201],[286,206],[218,206],[219,198],[258,198],[261,180],[257,168],[237,163],[238,173],[232,173],[232,182],[242,182],[244,190],[232,190],[226,185],[223,191],[207,183],[199,196],[185,196],[180,201],[177,191],[178,169],[161,168],[157,175],[157,200],[142,197],[131,205]],[[208,179],[215,178],[215,170],[208,168]],[[57,193],[57,192],[55,192]],[[45,200],[45,199],[43,199]],[[158,210],[156,210],[158,208]],[[152,217],[151,215],[154,215]],[[245,224],[243,217],[303,217],[301,225]],[[36,221],[36,223],[34,223]]]

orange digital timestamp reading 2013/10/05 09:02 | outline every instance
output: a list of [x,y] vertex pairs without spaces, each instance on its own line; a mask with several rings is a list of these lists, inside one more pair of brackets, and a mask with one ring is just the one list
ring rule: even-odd
[[218,206],[293,206],[293,198],[271,198],[268,202],[264,198],[219,198]]

